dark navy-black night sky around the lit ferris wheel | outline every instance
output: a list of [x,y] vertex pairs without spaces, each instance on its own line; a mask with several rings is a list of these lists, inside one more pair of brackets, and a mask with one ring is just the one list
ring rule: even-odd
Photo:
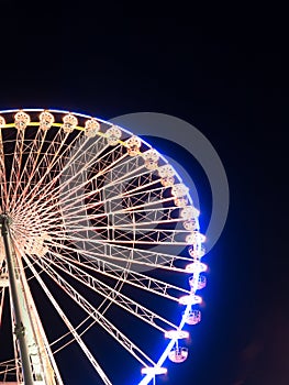
[[[205,261],[203,321],[188,361],[158,383],[288,385],[282,10],[113,1],[95,9],[85,2],[22,7],[1,4],[1,110],[63,108],[105,120],[167,113],[200,130],[226,170],[230,212]],[[155,145],[169,155],[165,142]],[[174,156],[181,162],[180,151]],[[201,183],[201,174],[196,177]],[[209,216],[208,184],[197,187]],[[76,381],[71,385],[91,384],[85,374]]]

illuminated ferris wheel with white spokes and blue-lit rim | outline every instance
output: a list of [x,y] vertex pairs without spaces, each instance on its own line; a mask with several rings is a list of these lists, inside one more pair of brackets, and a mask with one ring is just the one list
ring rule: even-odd
[[[11,314],[0,384],[65,384],[71,345],[96,384],[152,384],[167,360],[186,361],[201,320],[204,237],[188,188],[156,150],[85,114],[1,111],[0,194],[0,333]],[[130,362],[121,382],[119,360]]]

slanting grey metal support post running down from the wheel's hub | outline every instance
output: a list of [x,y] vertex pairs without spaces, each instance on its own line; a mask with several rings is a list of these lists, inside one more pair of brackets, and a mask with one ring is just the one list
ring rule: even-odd
[[3,237],[7,268],[9,274],[9,283],[11,290],[11,301],[14,311],[14,333],[19,343],[22,372],[24,385],[33,385],[32,366],[30,362],[29,350],[25,341],[25,326],[23,324],[21,307],[19,302],[18,285],[16,285],[16,266],[13,246],[11,243],[11,235],[9,229],[9,217],[7,215],[0,216],[1,234]]

